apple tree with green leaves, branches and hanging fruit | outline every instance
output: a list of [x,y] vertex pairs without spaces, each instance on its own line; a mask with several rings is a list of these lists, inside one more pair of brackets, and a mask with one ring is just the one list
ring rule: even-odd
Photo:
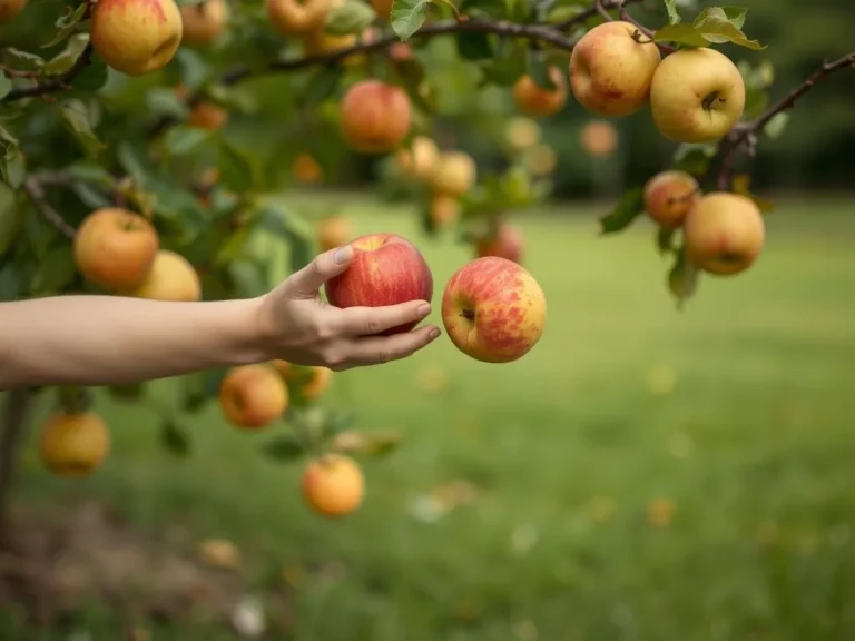
[[[346,219],[295,205],[292,190],[358,178],[354,160],[365,159],[379,191],[412,204],[426,234],[522,262],[509,217],[549,198],[556,168],[537,121],[576,100],[603,120],[648,110],[674,142],[669,166],[630,185],[600,231],[649,216],[655,246],[672,257],[665,280],[682,302],[700,275],[734,276],[757,259],[770,204],[750,194],[738,162],[855,53],[775,100],[745,9],[661,0],[650,7],[657,23],[643,26],[633,4],[0,0],[2,299],[263,294],[281,260],[293,272],[350,238]],[[724,43],[745,59],[721,53]],[[501,149],[501,166],[479,167],[464,151],[485,145]],[[315,509],[354,510],[362,481],[346,456],[387,452],[397,435],[355,431],[351,414],[326,410],[332,378],[284,362],[179,377],[163,442],[186,454],[183,421],[218,403],[233,426],[262,432],[277,460],[335,452],[322,470],[352,477],[354,493]],[[248,386],[265,391],[253,412]],[[109,392],[149,402],[145,384]],[[40,432],[50,470],[89,473],[109,450],[89,389],[9,392],[2,505],[37,395],[57,405]]]

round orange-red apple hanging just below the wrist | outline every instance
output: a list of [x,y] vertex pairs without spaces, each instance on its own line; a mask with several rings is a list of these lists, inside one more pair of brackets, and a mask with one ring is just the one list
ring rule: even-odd
[[219,406],[235,427],[259,430],[288,407],[288,388],[274,367],[239,365],[229,369],[220,383]]

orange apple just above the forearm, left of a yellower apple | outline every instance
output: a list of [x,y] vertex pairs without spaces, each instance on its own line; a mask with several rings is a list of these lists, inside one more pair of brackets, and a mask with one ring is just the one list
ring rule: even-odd
[[154,226],[127,209],[96,209],[77,229],[73,257],[77,270],[109,290],[132,289],[146,279],[159,249]]

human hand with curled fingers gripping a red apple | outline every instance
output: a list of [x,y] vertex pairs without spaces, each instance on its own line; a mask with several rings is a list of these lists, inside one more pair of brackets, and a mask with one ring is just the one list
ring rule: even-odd
[[379,332],[421,320],[428,300],[387,307],[348,307],[325,303],[318,292],[353,260],[347,245],[325,252],[262,298],[258,332],[265,353],[298,365],[323,365],[341,372],[406,358],[440,335],[435,325],[392,336]]

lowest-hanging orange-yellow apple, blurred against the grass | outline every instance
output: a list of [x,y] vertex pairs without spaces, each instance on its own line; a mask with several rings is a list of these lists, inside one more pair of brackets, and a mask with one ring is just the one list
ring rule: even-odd
[[303,497],[318,514],[344,516],[362,505],[365,479],[360,465],[344,454],[324,454],[303,472]]

